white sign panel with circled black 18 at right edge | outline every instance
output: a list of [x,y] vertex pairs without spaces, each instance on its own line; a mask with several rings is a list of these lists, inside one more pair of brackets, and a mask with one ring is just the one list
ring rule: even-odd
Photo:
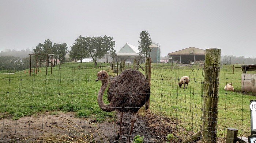
[[256,100],[250,100],[251,135],[256,134]]

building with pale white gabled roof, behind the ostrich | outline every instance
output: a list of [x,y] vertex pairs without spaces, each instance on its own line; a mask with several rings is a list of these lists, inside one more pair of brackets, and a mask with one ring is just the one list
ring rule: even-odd
[[131,61],[136,59],[139,63],[145,63],[145,57],[139,55],[138,47],[126,43],[120,51],[117,52],[117,61]]

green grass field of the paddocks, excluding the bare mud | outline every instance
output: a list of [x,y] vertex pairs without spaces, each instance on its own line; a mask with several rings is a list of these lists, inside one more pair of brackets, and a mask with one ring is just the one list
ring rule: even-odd
[[[101,70],[100,63],[65,63],[53,67],[39,68],[29,76],[28,68],[15,74],[0,74],[0,118],[11,115],[13,120],[36,112],[74,111],[78,117],[93,117],[98,122],[113,120],[114,112],[104,112],[97,104],[97,93],[101,82],[95,82]],[[102,69],[115,76],[109,63]],[[142,65],[143,66],[143,65]],[[159,118],[172,118],[178,128],[187,131],[200,129],[203,95],[203,67],[193,65],[152,64],[150,110]],[[235,65],[234,67],[239,67]],[[139,69],[142,71],[142,69]],[[8,70],[7,70],[8,71]],[[26,73],[25,73],[26,71]],[[142,71],[144,74],[144,71]],[[248,136],[251,131],[249,100],[256,99],[255,93],[241,92],[241,68],[222,65],[219,77],[218,136],[226,128],[238,128],[239,135]],[[248,73],[256,74],[256,71]],[[187,75],[187,89],[178,87],[178,78]],[[235,91],[225,91],[226,82],[232,82]],[[182,86],[183,87],[183,86]],[[104,96],[105,97],[105,96]],[[104,102],[107,103],[106,97]],[[182,133],[181,133],[182,134]],[[185,132],[184,132],[185,135]]]

